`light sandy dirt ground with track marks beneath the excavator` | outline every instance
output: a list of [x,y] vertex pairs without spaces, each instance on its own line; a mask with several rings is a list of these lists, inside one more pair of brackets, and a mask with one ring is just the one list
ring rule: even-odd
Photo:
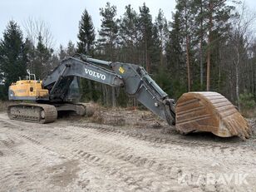
[[255,180],[256,135],[180,135],[146,111],[46,125],[0,113],[0,191],[256,191]]

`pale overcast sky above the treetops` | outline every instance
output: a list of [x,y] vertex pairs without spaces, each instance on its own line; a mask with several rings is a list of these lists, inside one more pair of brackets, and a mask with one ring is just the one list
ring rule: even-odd
[[[105,7],[106,2],[116,5],[118,17],[125,12],[127,4],[131,4],[135,11],[139,12],[143,2],[150,8],[153,20],[160,8],[169,21],[171,12],[175,10],[175,0],[0,0],[0,38],[11,19],[23,27],[27,18],[33,17],[49,25],[55,47],[59,47],[61,43],[66,47],[68,41],[77,41],[78,22],[85,8],[91,14],[96,31],[100,29],[99,8]],[[246,0],[246,4],[252,10],[256,10],[255,0]]]

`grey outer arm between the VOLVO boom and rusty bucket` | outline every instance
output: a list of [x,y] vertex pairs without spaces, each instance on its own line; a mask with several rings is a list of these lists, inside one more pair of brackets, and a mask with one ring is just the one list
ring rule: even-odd
[[114,62],[113,71],[122,77],[126,93],[135,96],[144,106],[170,126],[175,125],[175,101],[158,86],[142,66]]

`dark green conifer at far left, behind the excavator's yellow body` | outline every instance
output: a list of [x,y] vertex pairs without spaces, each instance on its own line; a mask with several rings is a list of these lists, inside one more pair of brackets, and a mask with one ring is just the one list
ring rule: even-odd
[[5,79],[4,96],[7,87],[19,77],[26,76],[27,49],[22,39],[22,31],[16,22],[10,21],[0,41],[0,73]]

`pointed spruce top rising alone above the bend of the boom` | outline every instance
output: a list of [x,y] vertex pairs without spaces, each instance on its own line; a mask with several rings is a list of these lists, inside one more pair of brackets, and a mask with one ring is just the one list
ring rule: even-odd
[[91,48],[95,41],[95,29],[91,20],[91,16],[85,9],[79,22],[79,33],[77,35],[77,52],[83,54],[91,54]]

